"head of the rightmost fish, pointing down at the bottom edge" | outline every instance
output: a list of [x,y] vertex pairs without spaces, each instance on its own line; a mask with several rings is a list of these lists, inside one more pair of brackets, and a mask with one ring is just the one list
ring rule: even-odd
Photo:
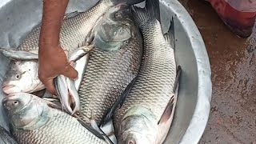
[[145,107],[136,106],[126,112],[118,129],[118,143],[154,144],[158,138],[158,122]]

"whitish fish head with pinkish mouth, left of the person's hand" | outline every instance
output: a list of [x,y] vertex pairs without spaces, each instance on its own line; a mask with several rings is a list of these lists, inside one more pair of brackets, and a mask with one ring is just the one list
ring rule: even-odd
[[31,93],[43,88],[44,86],[38,78],[38,62],[36,60],[10,62],[2,83],[3,92],[6,94]]

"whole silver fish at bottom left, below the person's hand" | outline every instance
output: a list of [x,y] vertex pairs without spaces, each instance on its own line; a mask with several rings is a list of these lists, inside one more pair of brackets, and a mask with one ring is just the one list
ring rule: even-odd
[[20,144],[106,144],[102,134],[84,127],[70,114],[54,109],[54,103],[33,94],[10,94],[2,100],[11,134]]

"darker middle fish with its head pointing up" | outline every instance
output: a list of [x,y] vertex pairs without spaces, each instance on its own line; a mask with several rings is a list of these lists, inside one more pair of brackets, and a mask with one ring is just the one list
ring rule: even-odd
[[99,125],[138,74],[142,35],[130,9],[121,5],[106,12],[93,34],[95,49],[90,52],[78,94],[83,120],[94,118]]

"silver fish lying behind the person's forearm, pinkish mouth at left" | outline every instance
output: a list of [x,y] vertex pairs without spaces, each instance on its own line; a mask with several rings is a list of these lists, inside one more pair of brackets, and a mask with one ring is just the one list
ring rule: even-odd
[[[96,26],[98,19],[100,19],[102,14],[105,14],[106,10],[109,10],[110,7],[120,3],[130,5],[141,1],[142,0],[101,0],[94,7],[90,8],[90,10],[67,14],[62,23],[60,32],[60,42],[63,50],[66,50],[67,54],[71,54],[76,48],[83,46],[90,30]],[[6,78],[2,86],[6,94],[16,92],[31,93],[44,89],[42,82],[38,79],[38,75],[35,74],[38,73],[38,66],[36,66],[38,62],[34,60],[36,57],[35,54],[38,54],[40,28],[41,25],[35,28],[18,46],[15,53],[13,53],[11,49],[0,50],[6,57],[18,62],[18,64],[11,62],[10,68],[7,70]],[[10,52],[8,53],[6,50],[10,50]],[[26,57],[24,55],[26,55]],[[29,59],[31,59],[31,61]],[[30,68],[25,69],[23,66],[29,66]]]

